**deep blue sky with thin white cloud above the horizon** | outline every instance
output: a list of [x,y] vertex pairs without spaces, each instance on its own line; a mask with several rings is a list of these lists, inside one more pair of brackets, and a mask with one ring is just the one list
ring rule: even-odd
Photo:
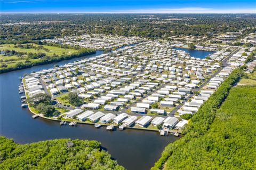
[[256,0],[0,0],[2,13],[256,13]]

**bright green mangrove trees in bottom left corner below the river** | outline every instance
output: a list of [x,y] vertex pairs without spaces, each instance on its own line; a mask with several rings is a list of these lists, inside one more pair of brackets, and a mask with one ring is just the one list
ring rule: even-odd
[[17,144],[0,136],[0,169],[122,170],[97,141],[56,139]]

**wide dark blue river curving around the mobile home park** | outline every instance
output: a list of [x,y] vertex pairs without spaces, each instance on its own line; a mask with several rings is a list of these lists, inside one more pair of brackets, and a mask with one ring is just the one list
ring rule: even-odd
[[[100,55],[96,54],[86,56]],[[83,58],[83,57],[82,57]],[[79,58],[79,59],[82,59]],[[71,59],[58,62],[65,64],[78,60]],[[28,109],[22,109],[18,85],[19,76],[32,71],[53,68],[54,64],[46,64],[18,71],[7,72],[0,75],[0,134],[14,139],[18,143],[30,143],[48,139],[71,138],[97,140],[101,142],[111,156],[131,170],[146,170],[154,165],[161,156],[164,147],[177,137],[160,136],[157,132],[138,131],[125,129],[114,132],[99,129],[92,125],[81,125],[77,127],[60,126],[58,122],[42,118],[33,119]]]

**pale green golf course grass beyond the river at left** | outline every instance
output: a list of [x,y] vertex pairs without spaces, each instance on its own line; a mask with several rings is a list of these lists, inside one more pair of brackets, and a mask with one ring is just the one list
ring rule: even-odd
[[[30,44],[33,45],[35,47],[38,47],[39,45],[37,44]],[[62,54],[66,54],[66,55],[70,55],[73,54],[75,52],[77,52],[77,50],[74,49],[70,49],[70,48],[60,48],[60,47],[55,47],[55,46],[47,46],[47,45],[40,45],[43,46],[42,49],[38,49],[38,48],[21,48],[21,47],[14,47],[14,44],[3,44],[0,45],[0,51],[4,51],[4,50],[14,50],[17,52],[24,52],[24,53],[45,53],[46,56],[53,56],[55,55],[62,55]],[[44,50],[47,49],[47,50]],[[17,55],[11,55],[11,56],[6,56],[3,54],[0,54],[0,60],[3,61],[1,62],[1,64],[7,64],[7,68],[9,67],[14,67],[16,63],[18,62],[25,62],[26,60],[29,60],[31,62],[35,62],[35,61],[39,61],[41,59],[29,59],[28,58],[28,54],[24,54],[21,56],[17,56]],[[6,61],[7,60],[7,61]],[[14,61],[8,61],[8,60],[14,60]]]

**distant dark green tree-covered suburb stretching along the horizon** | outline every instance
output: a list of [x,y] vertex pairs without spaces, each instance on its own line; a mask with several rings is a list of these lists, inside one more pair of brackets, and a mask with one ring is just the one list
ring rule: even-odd
[[[23,22],[23,23],[20,23]],[[117,34],[150,39],[255,32],[255,14],[1,14],[2,43],[82,34]]]

